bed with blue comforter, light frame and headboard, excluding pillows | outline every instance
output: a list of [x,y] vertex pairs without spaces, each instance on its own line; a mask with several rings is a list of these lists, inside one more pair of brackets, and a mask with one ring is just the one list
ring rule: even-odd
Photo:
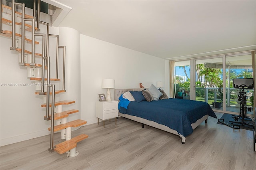
[[[121,102],[120,96],[127,91],[144,89],[115,89],[114,100]],[[164,99],[158,101],[131,101],[126,108],[119,107],[118,115],[176,134],[185,144],[186,136],[192,134],[194,128],[203,121],[207,123],[209,116],[217,118],[208,103],[183,99]]]

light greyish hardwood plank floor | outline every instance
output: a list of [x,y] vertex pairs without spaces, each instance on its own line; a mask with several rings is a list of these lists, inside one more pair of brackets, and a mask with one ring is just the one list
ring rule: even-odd
[[[216,113],[220,118],[222,113]],[[181,144],[179,136],[119,118],[81,127],[89,137],[79,155],[48,152],[50,136],[0,147],[1,170],[256,170],[252,131],[216,124],[210,117]],[[60,142],[55,135],[55,144]]]

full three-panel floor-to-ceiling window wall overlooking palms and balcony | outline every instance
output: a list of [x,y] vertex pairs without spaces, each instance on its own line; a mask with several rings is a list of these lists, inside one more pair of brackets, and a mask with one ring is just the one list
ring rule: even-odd
[[[252,67],[255,62],[255,51],[176,61],[175,97],[205,101],[214,110],[238,114],[240,89],[233,87],[233,79],[255,77]],[[247,107],[252,108],[252,111],[247,113],[253,115],[256,105],[253,102],[254,89],[244,91],[247,96]]]

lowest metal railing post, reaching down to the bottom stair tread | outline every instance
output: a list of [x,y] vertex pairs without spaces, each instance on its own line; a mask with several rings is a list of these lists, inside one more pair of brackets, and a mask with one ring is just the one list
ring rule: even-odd
[[[52,85],[47,85],[47,87],[52,87],[52,108],[51,108],[51,134],[50,134],[50,148],[48,149],[50,152],[53,152],[54,151],[54,143],[53,143],[53,139],[54,139],[54,103],[55,103],[55,85],[52,84]],[[48,88],[47,88],[48,89]],[[50,96],[50,91],[47,91],[47,96]],[[48,101],[49,102],[49,101]],[[48,107],[48,109],[50,108],[50,106],[46,106]],[[46,111],[47,111],[47,108],[46,108]]]

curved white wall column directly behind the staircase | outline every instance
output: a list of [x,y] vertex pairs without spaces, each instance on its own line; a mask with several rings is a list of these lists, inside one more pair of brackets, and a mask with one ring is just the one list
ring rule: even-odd
[[[67,34],[68,33],[68,34]],[[70,105],[63,105],[62,110],[78,109],[79,112],[70,114],[68,121],[80,119],[81,108],[81,82],[80,82],[80,33],[72,28],[60,27],[59,28],[59,45],[66,46],[66,68],[65,68],[65,93],[60,93],[59,98],[62,100],[74,100],[76,103]],[[60,55],[60,60],[62,55]],[[63,63],[63,62],[61,62]],[[60,72],[62,66],[60,65]],[[62,80],[62,73],[60,73]],[[60,83],[62,85],[62,83]],[[60,87],[60,89],[62,86]],[[72,128],[75,130],[76,128]]]

